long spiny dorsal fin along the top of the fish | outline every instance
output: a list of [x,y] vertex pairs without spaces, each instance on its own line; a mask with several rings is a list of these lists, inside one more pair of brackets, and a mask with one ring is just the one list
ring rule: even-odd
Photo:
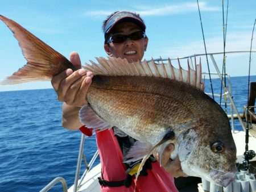
[[94,75],[102,76],[149,76],[170,78],[177,81],[183,81],[191,84],[198,89],[204,90],[204,84],[201,82],[201,59],[195,70],[191,69],[188,62],[188,70],[181,68],[178,59],[179,68],[175,68],[168,59],[168,63],[156,64],[154,59],[151,61],[128,62],[126,59],[108,57],[96,57],[98,63],[91,61],[82,66],[85,70],[93,72]]

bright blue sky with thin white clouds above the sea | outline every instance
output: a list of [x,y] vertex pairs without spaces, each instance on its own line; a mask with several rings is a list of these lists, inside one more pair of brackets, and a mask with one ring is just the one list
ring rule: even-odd
[[[224,1],[224,16],[228,1]],[[221,0],[199,1],[205,45],[208,53],[224,51],[223,14]],[[0,0],[0,14],[13,19],[53,49],[69,58],[77,51],[82,63],[106,57],[102,22],[117,10],[139,13],[149,38],[144,59],[167,59],[205,53],[197,1],[65,1],[65,0]],[[253,24],[256,19],[255,0],[229,1],[226,23],[225,51],[250,50]],[[255,33],[255,32],[254,32]],[[254,34],[254,39],[255,39]],[[253,41],[253,50],[256,42]],[[216,57],[222,69],[223,54]],[[207,60],[202,59],[203,72]],[[199,57],[197,57],[199,60]],[[210,60],[210,58],[208,58]],[[185,68],[187,60],[182,60]],[[0,21],[0,81],[26,64],[18,41]],[[175,65],[175,61],[174,61]],[[209,62],[210,71],[215,72]],[[251,75],[256,75],[256,52],[251,55]],[[246,76],[249,71],[249,53],[226,54],[226,73]],[[207,77],[205,77],[207,78]],[[13,86],[0,86],[0,91],[46,89],[50,82],[30,82]]]

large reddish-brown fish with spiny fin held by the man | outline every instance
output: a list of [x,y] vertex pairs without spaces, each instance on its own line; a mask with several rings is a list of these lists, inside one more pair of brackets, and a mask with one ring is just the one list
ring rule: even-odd
[[[2,84],[50,80],[64,69],[75,67],[64,56],[0,15],[19,41],[27,64]],[[229,119],[203,91],[201,65],[192,70],[154,61],[128,63],[122,59],[97,58],[84,68],[94,74],[86,96],[89,105],[80,110],[87,127],[105,130],[116,126],[138,141],[127,158],[152,153],[161,157],[173,143],[171,158],[179,156],[183,172],[221,186],[234,180],[236,145]]]

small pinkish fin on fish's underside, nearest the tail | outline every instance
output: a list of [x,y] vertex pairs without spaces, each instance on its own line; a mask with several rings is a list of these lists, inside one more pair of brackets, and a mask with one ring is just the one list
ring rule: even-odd
[[103,119],[101,119],[100,116],[98,116],[96,112],[94,112],[92,108],[90,108],[89,105],[82,106],[79,111],[79,119],[80,122],[86,127],[96,130],[104,131],[113,127],[106,123]]

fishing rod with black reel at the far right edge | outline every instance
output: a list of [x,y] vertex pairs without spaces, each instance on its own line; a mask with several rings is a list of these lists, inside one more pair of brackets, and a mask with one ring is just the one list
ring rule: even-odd
[[[253,25],[253,33],[251,34],[251,47],[253,45],[253,34],[254,34],[254,27],[255,27],[256,19]],[[249,150],[248,143],[249,143],[249,90],[250,90],[250,68],[251,68],[251,47],[250,47],[250,57],[249,57],[249,73],[248,73],[248,87],[247,87],[247,122],[246,122],[246,131],[245,131],[245,160],[243,160],[243,167],[245,170],[249,169],[249,160],[255,157],[255,152],[253,150]]]

